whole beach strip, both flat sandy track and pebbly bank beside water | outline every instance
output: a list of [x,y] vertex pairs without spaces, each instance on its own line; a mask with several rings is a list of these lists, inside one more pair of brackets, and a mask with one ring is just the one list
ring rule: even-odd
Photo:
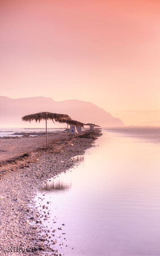
[[[33,200],[42,183],[71,168],[71,158],[84,154],[94,145],[97,135],[70,136],[66,142],[66,134],[53,134],[49,136],[48,151],[44,135],[1,139],[1,255],[59,254],[53,249],[54,230],[43,225],[44,218],[49,218],[47,205],[42,203],[40,213]],[[48,237],[53,239],[47,240]]]

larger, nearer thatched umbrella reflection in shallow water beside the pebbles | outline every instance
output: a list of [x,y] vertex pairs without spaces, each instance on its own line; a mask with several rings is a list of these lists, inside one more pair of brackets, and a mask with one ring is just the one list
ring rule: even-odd
[[42,185],[42,190],[67,190],[70,189],[72,186],[72,183],[64,183],[63,181],[60,180],[47,180],[43,185]]

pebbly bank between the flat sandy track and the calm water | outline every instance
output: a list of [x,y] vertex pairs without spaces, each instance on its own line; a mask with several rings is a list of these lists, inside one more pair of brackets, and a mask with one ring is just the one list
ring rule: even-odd
[[[81,137],[85,137],[85,134]],[[53,148],[49,151],[40,150],[36,152],[37,154],[33,152],[33,161],[32,154],[22,160],[16,160],[18,162],[14,162],[13,170],[10,170],[10,164],[13,163],[3,163],[6,171],[0,180],[2,256],[6,253],[7,255],[58,255],[53,249],[54,233],[50,233],[50,230],[43,225],[46,214],[49,216],[47,206],[41,205],[41,209],[46,213],[43,216],[35,207],[34,198],[45,180],[75,166],[71,158],[85,154],[88,148],[94,146],[94,139],[100,135],[99,130],[94,138],[71,137],[68,142],[62,141],[61,144],[59,142],[58,148],[54,144],[54,150]],[[51,240],[53,242],[47,240],[49,235],[53,237]]]

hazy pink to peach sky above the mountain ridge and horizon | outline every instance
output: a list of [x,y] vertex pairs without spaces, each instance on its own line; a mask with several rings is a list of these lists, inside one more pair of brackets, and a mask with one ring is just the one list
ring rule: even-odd
[[159,0],[0,0],[0,31],[1,96],[91,101],[127,123],[160,109]]

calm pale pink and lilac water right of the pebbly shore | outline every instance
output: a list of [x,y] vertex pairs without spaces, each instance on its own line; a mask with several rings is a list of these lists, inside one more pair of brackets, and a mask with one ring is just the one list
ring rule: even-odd
[[47,182],[59,252],[160,255],[159,138],[160,129],[103,130],[75,170]]

